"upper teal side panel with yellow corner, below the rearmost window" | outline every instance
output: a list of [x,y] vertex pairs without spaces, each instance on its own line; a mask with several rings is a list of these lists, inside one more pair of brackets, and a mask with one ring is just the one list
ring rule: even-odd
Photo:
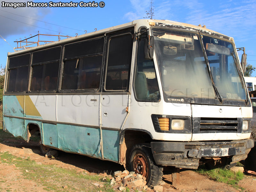
[[24,117],[24,95],[4,95],[3,100],[4,115]]

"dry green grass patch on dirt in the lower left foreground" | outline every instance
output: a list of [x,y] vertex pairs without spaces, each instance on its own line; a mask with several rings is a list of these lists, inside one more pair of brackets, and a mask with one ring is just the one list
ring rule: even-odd
[[[85,173],[76,173],[73,169],[64,169],[56,165],[36,164],[29,157],[22,159],[13,156],[9,152],[0,153],[1,163],[15,164],[15,166],[23,172],[23,178],[34,180],[36,183],[44,186],[47,191],[92,191],[99,190],[114,192],[112,186],[109,185],[109,180],[104,188],[93,186],[92,183],[100,181],[99,175],[89,175]],[[27,171],[26,171],[27,170]],[[68,188],[63,188],[67,186]]]

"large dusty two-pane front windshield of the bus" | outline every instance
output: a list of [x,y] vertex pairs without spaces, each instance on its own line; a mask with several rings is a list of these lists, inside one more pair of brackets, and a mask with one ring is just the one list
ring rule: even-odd
[[[160,28],[153,28],[152,31],[164,92],[170,96],[216,98],[199,35]],[[220,96],[223,99],[245,100],[232,44],[217,39],[218,45],[222,46],[216,46],[212,42],[214,39],[203,37],[204,46],[208,46],[213,81]]]

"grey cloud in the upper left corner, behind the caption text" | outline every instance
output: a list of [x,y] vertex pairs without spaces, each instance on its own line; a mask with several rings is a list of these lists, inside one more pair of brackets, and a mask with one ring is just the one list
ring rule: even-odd
[[[5,0],[5,2],[25,2],[26,0],[14,1],[14,0]],[[1,4],[2,5],[2,4]],[[7,38],[8,36],[15,35],[15,34],[30,34],[32,31],[35,30],[35,27],[30,25],[38,26],[38,21],[36,20],[43,20],[44,16],[50,12],[50,8],[38,8],[38,7],[19,7],[19,8],[11,8],[11,7],[0,7],[0,34]],[[9,13],[10,12],[10,13]],[[14,15],[14,14],[17,15]],[[36,20],[32,20],[29,18],[33,18]],[[9,19],[8,19],[9,18]],[[16,21],[15,21],[16,20]],[[23,23],[22,23],[23,22]],[[27,25],[27,24],[29,25]]]

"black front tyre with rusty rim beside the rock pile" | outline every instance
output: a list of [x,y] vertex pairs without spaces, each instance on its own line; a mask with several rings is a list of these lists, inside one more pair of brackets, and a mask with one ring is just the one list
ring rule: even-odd
[[156,186],[162,180],[163,167],[157,166],[151,148],[143,144],[134,145],[129,158],[130,171],[146,177],[147,185]]

